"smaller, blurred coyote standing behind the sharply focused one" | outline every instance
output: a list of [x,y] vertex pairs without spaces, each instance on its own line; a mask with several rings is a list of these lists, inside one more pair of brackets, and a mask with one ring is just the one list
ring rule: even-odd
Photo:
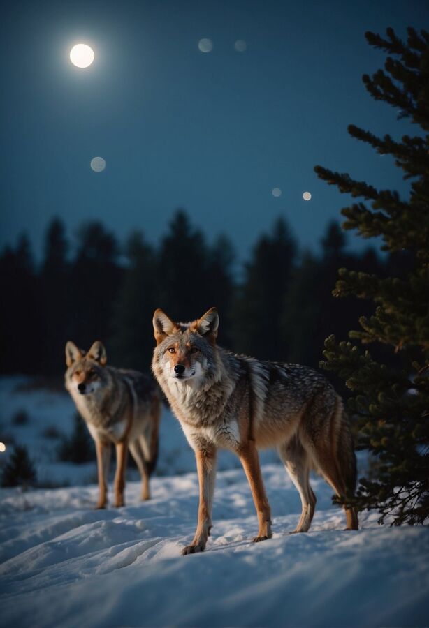
[[66,389],[95,440],[99,502],[106,507],[112,443],[116,447],[115,506],[124,506],[127,450],[142,477],[142,499],[150,498],[149,477],[157,463],[161,402],[155,382],[138,371],[106,366],[106,349],[96,341],[86,353],[66,344]]

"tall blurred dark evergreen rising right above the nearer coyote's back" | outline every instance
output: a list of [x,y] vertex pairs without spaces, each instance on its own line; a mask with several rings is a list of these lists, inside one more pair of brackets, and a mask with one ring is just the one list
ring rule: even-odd
[[245,268],[233,311],[235,350],[259,359],[286,359],[281,320],[295,255],[296,242],[279,218],[272,232],[259,238]]

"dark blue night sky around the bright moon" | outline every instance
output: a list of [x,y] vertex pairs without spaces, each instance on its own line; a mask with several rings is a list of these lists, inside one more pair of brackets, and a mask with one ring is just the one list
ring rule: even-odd
[[[155,242],[178,207],[209,239],[226,232],[241,258],[277,216],[317,246],[348,198],[314,165],[407,190],[347,125],[415,132],[365,91],[362,74],[385,57],[364,33],[405,38],[428,17],[417,0],[9,3],[0,246],[27,230],[40,256],[53,216],[69,234],[99,219],[120,239],[138,228]],[[71,64],[76,43],[93,48],[89,68]]]

